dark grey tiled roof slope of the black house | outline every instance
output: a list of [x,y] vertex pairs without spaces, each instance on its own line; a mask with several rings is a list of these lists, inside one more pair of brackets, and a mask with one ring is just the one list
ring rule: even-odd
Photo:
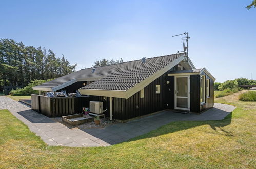
[[52,81],[45,82],[36,87],[53,88],[77,78],[89,79],[99,77],[99,80],[82,89],[126,90],[184,55],[186,55],[186,53],[152,57],[146,59],[145,63],[142,63],[142,60],[135,60],[121,64],[95,67],[93,73],[93,68],[82,69]]

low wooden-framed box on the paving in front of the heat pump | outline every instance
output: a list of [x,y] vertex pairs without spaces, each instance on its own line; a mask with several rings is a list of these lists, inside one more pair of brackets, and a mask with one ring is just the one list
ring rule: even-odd
[[67,122],[71,125],[79,125],[79,124],[91,122],[93,120],[94,120],[94,117],[90,117],[84,114],[74,114],[74,115],[62,117],[62,121]]

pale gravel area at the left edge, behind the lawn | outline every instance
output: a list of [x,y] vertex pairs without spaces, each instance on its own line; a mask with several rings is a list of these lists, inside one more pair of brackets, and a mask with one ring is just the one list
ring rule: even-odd
[[0,109],[17,110],[26,108],[28,108],[28,106],[21,102],[12,100],[6,96],[0,96]]

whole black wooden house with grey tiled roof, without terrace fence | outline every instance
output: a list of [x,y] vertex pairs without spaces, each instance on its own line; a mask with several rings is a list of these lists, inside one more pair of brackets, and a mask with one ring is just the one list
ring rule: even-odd
[[214,81],[205,68],[195,69],[184,52],[82,69],[33,89],[42,95],[79,90],[89,95],[87,100],[103,101],[107,117],[128,120],[165,109],[205,111],[213,107]]

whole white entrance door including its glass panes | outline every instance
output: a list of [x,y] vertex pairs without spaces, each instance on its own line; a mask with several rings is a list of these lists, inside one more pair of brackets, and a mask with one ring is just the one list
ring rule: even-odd
[[190,76],[175,76],[175,109],[190,110]]

